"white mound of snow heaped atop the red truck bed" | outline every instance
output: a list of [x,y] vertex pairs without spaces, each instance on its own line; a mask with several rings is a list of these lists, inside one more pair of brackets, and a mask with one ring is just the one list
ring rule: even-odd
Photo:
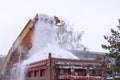
[[51,53],[52,57],[55,57],[55,58],[78,59],[71,52],[61,49],[59,46],[47,44],[46,47],[42,48],[39,52],[36,52],[35,54],[33,54],[25,62],[32,63],[35,61],[47,59],[49,53]]

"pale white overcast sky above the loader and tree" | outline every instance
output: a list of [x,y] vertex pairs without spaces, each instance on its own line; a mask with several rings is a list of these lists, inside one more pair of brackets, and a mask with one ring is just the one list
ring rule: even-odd
[[7,54],[29,19],[37,13],[58,16],[84,31],[82,44],[104,52],[111,28],[120,18],[120,0],[0,0],[0,54]]

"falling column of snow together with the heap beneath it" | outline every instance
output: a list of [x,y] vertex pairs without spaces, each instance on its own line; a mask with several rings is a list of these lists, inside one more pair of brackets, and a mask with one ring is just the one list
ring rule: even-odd
[[39,20],[35,25],[31,56],[25,63],[47,59],[49,53],[55,58],[78,59],[71,52],[59,47],[56,40],[57,28],[54,17],[39,15]]

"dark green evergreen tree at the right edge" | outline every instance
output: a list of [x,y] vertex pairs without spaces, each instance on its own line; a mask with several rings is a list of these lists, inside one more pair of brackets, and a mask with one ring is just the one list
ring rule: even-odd
[[104,36],[108,44],[102,45],[102,48],[109,50],[107,56],[115,59],[115,72],[120,73],[120,20],[117,29],[118,30],[111,29],[111,35]]

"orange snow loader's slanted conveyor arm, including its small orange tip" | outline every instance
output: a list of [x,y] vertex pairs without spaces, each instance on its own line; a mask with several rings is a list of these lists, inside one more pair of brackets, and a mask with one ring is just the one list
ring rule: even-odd
[[[60,23],[58,17],[54,18],[56,21],[56,25]],[[8,55],[6,56],[2,64],[2,68],[0,70],[0,80],[7,80],[6,76],[7,74],[9,74],[9,69],[11,68],[11,65],[17,63],[19,60],[23,60],[26,58],[26,54],[32,47],[31,40],[34,32],[34,25],[36,24],[38,19],[38,15],[36,15],[34,19],[29,20],[23,31],[13,43],[13,46],[9,50]]]

